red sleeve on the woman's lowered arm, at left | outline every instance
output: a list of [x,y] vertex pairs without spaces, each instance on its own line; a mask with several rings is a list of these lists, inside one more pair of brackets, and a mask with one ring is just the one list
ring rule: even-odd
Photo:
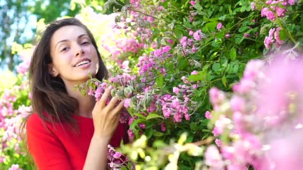
[[38,170],[71,170],[66,151],[58,138],[32,114],[26,123],[27,145]]

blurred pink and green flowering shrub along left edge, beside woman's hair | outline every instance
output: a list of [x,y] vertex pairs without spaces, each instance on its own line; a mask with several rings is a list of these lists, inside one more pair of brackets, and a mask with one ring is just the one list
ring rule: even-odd
[[[27,73],[29,46],[14,46],[13,50],[23,56],[18,66],[17,76],[12,73],[1,75],[0,87],[0,169],[21,170],[31,169],[29,159],[24,153],[24,145],[19,136],[22,119],[31,111]],[[3,79],[2,79],[3,78]]]

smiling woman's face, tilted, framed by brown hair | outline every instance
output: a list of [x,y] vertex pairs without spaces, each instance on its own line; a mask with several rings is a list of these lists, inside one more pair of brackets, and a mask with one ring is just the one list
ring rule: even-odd
[[68,25],[59,28],[51,37],[52,63],[49,73],[60,76],[64,84],[86,82],[89,73],[94,77],[99,69],[99,60],[88,33],[80,26]]

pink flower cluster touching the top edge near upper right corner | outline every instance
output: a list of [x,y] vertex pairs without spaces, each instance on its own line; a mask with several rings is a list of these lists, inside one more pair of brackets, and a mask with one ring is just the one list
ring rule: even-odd
[[[284,16],[286,9],[281,8],[281,5],[286,7],[287,5],[294,5],[295,0],[267,0],[265,2],[269,7],[264,7],[261,9],[261,16],[266,16],[267,19],[273,21],[276,19],[275,13],[278,17]],[[255,3],[251,4],[252,9],[255,8]]]

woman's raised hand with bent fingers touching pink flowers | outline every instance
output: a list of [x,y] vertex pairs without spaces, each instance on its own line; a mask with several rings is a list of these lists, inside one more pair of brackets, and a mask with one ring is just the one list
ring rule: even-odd
[[94,121],[94,137],[102,138],[110,141],[114,134],[120,119],[120,111],[123,108],[124,100],[122,100],[116,107],[119,101],[117,97],[113,97],[108,105],[106,101],[111,93],[112,87],[107,87],[101,99],[96,102],[93,109]]

